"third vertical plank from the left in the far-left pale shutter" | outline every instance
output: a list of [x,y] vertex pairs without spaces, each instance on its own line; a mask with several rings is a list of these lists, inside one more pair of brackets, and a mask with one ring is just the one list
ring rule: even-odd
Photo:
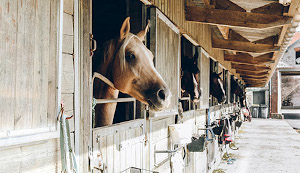
[[36,4],[32,127],[47,126],[50,1]]

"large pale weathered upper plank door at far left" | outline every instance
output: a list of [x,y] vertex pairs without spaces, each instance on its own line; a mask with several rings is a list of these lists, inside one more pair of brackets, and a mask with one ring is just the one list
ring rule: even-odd
[[2,141],[56,131],[57,7],[57,0],[1,0]]

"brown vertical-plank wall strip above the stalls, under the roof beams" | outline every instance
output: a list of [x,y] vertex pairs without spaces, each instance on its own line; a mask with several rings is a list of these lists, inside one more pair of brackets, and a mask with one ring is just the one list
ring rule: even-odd
[[[146,0],[142,0],[146,1]],[[224,61],[224,51],[216,50],[211,45],[211,27],[206,24],[187,22],[185,20],[184,2],[189,0],[149,0],[158,7],[179,29],[181,33],[188,34],[201,47],[203,47],[214,59],[220,62],[227,70],[237,77],[235,70],[231,68],[228,61]]]

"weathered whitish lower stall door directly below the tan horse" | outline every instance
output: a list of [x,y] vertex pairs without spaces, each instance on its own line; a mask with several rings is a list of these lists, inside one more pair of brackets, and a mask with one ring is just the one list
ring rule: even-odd
[[139,119],[93,129],[93,152],[101,153],[105,172],[145,169],[145,122]]

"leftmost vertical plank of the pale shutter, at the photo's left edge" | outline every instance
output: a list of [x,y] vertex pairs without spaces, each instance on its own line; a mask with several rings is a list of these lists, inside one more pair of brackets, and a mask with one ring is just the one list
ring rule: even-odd
[[16,44],[17,37],[17,2],[1,1],[2,19],[0,21],[0,129],[14,129],[15,82],[16,82]]

